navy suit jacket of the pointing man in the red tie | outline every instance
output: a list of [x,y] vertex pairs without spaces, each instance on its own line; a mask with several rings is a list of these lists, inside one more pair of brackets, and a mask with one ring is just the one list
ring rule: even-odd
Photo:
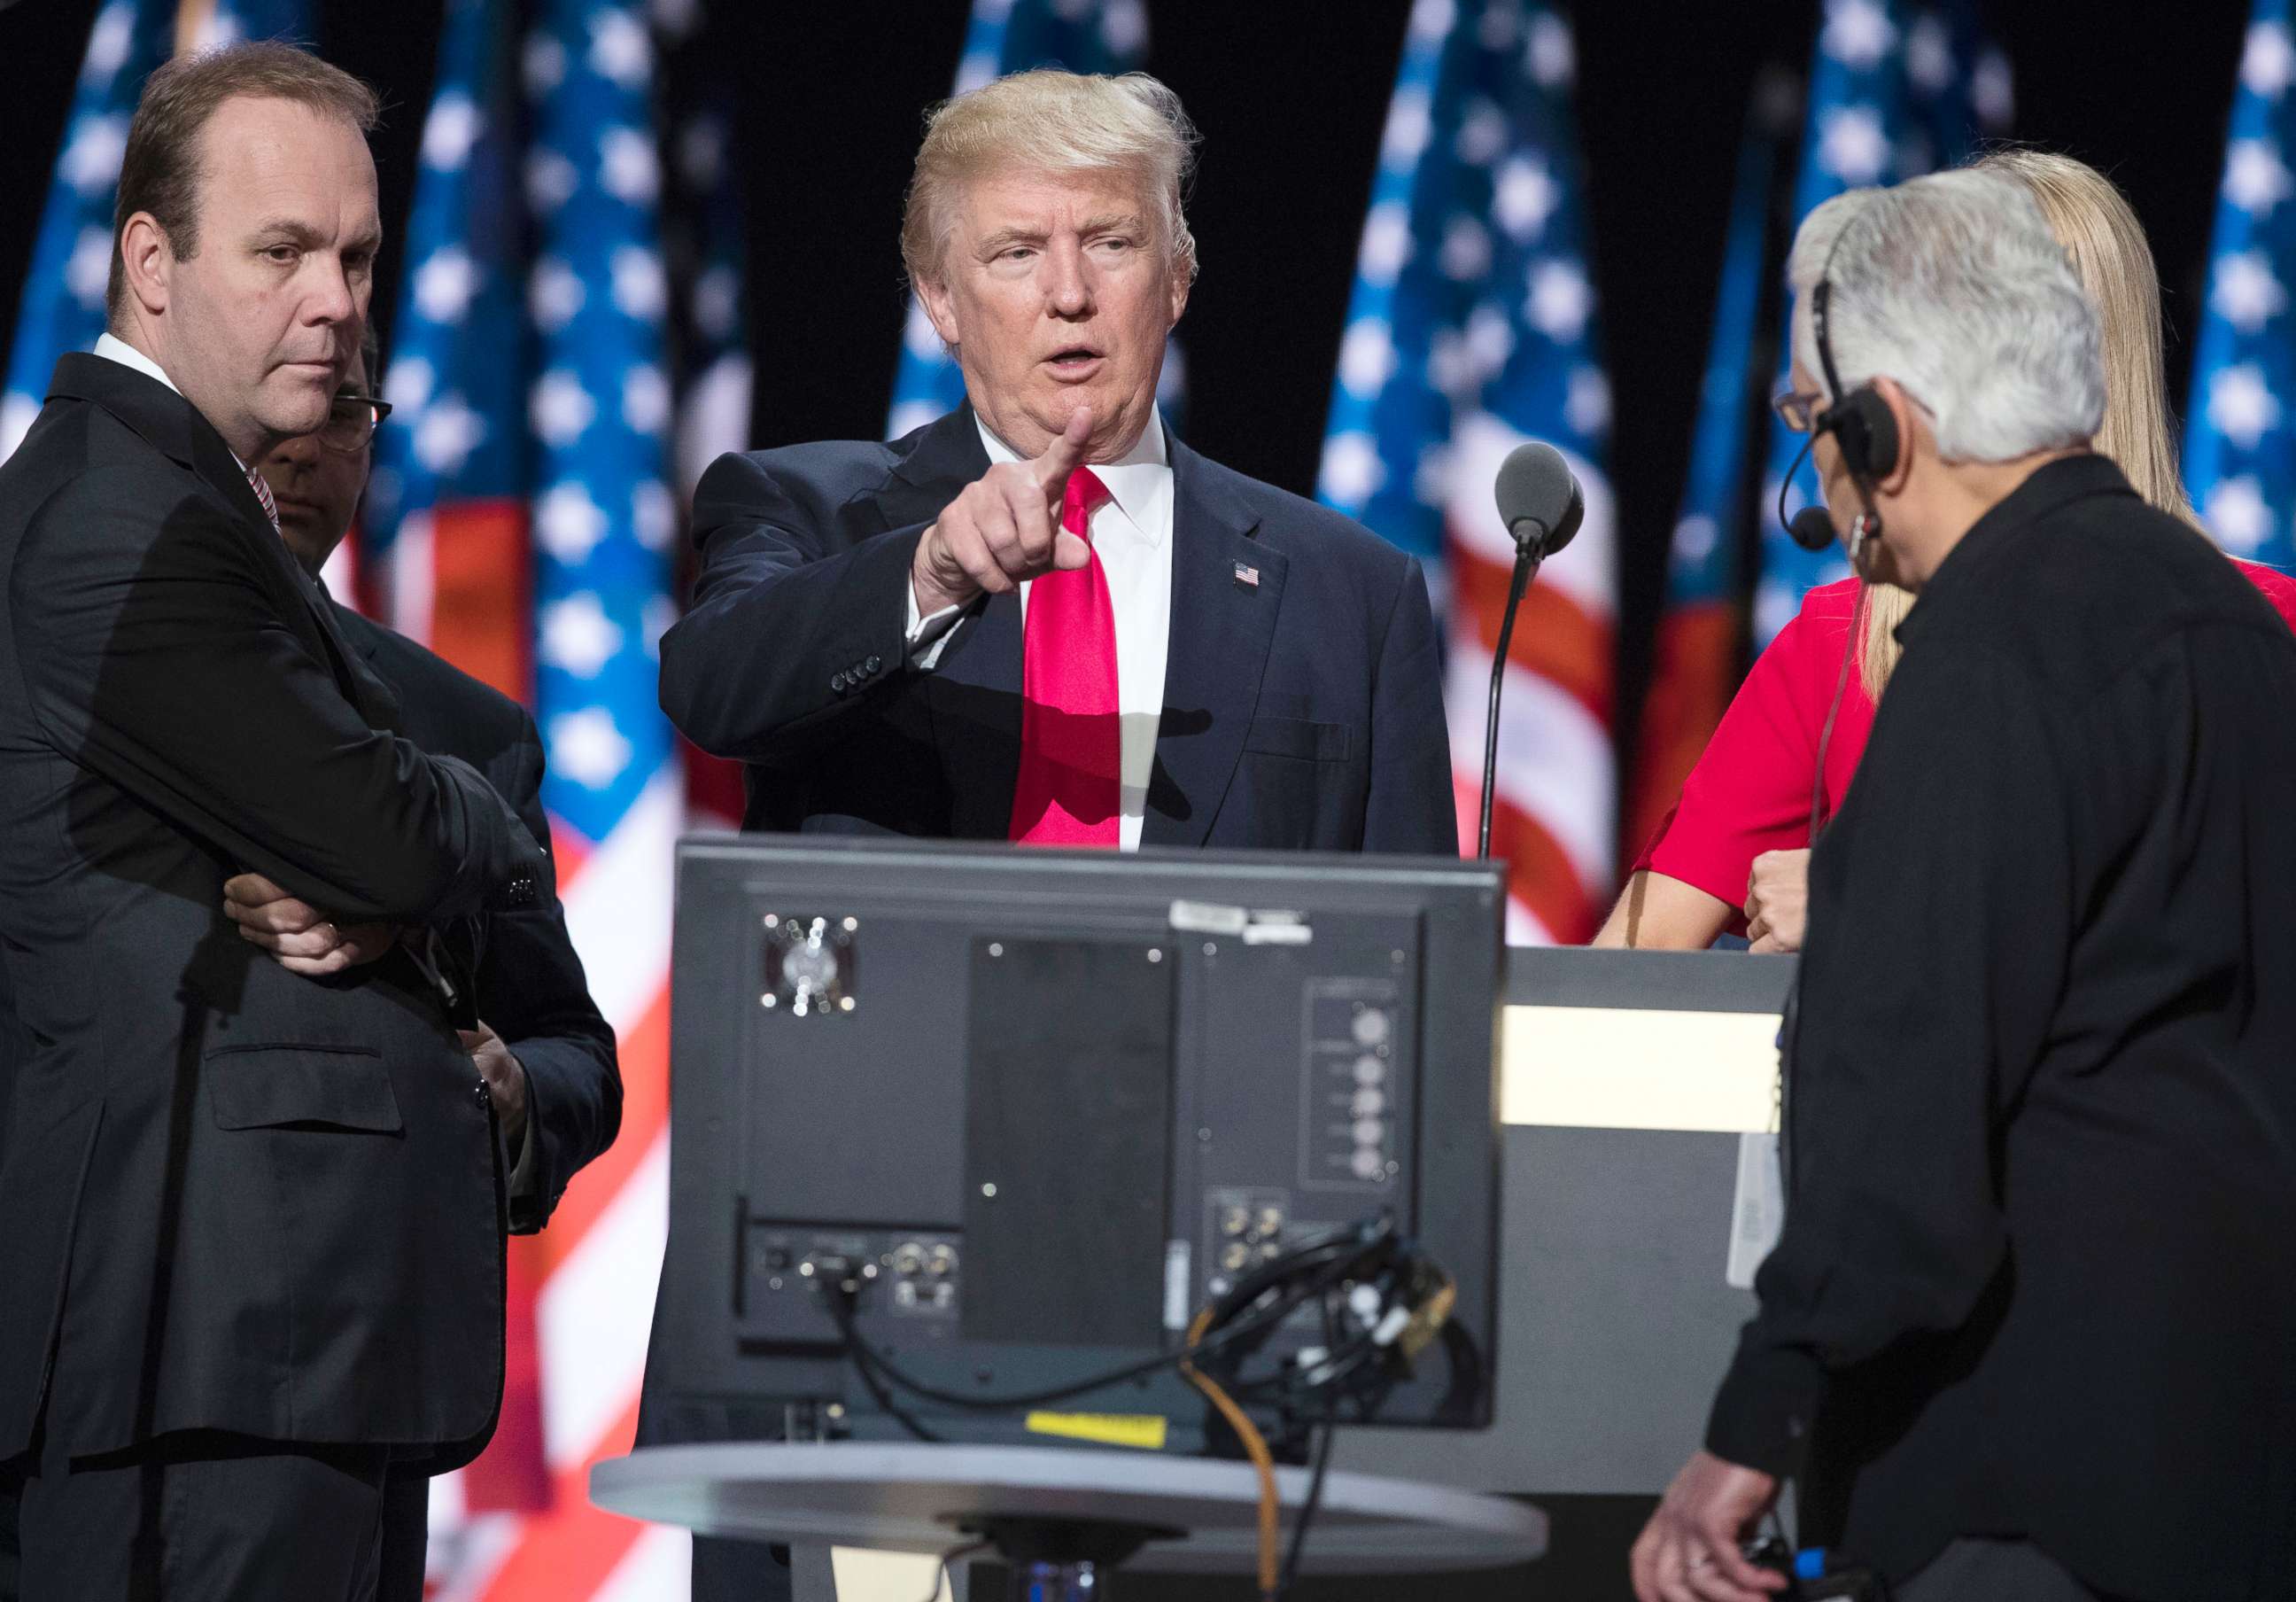
[[[918,535],[987,471],[967,406],[891,445],[721,457],[661,707],[748,771],[748,829],[1003,840],[1019,597],[907,668]],[[1171,441],[1171,650],[1141,845],[1458,851],[1419,562]]]

